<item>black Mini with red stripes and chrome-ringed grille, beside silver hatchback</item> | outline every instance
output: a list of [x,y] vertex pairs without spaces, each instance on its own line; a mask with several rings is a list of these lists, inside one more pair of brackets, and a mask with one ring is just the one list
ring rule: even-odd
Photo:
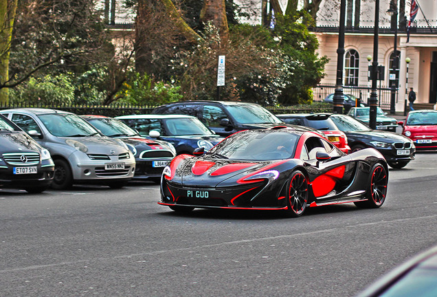
[[162,140],[150,140],[124,122],[103,115],[82,115],[103,135],[120,138],[135,156],[135,180],[161,181],[161,173],[167,163],[176,155],[175,146]]

